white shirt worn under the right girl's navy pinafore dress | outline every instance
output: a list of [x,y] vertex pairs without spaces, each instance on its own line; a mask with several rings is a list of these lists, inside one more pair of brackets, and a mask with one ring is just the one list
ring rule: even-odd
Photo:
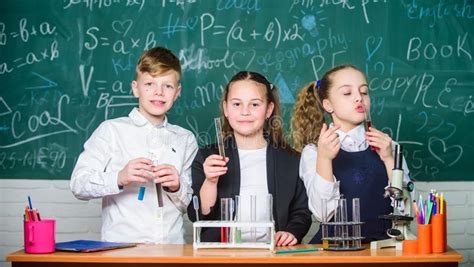
[[[333,124],[330,125],[333,127]],[[347,152],[364,151],[369,144],[365,139],[364,125],[360,124],[349,132],[345,133],[340,129],[336,130],[341,141],[341,149]],[[396,142],[392,142],[392,149],[395,149]],[[333,175],[333,181],[327,181],[316,172],[316,160],[318,150],[316,145],[308,144],[301,152],[300,177],[306,187],[308,195],[308,206],[318,221],[322,220],[321,200],[327,199],[328,219],[330,219],[336,209],[337,200],[340,198],[339,181]],[[409,170],[405,159],[403,159],[403,182],[409,182]],[[387,185],[389,182],[387,181]],[[412,192],[412,197],[414,192]],[[392,202],[392,205],[394,203]],[[382,215],[382,214],[380,214]]]

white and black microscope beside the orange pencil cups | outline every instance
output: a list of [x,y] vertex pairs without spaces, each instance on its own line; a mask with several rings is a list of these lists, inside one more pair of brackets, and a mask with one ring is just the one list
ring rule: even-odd
[[393,212],[388,215],[379,216],[380,219],[391,220],[392,228],[387,230],[390,237],[385,240],[370,242],[370,249],[381,249],[395,247],[402,250],[402,241],[416,239],[416,236],[409,231],[409,226],[413,217],[411,216],[412,199],[410,192],[413,191],[412,182],[403,182],[403,147],[395,146],[395,165],[392,170],[390,186],[385,188],[384,196],[391,197],[394,201]]

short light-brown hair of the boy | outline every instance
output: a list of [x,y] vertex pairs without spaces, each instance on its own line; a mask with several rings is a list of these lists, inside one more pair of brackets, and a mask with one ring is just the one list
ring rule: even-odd
[[170,50],[164,47],[154,47],[145,51],[138,60],[136,75],[140,72],[158,76],[170,70],[174,70],[181,78],[181,65],[179,59]]

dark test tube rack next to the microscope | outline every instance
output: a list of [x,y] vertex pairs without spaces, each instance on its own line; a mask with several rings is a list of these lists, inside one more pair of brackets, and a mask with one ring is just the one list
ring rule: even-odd
[[[353,221],[347,221],[347,222],[326,222],[326,223],[321,223],[321,227],[334,227],[334,233],[338,232],[336,228],[342,228],[342,227],[350,227],[352,226],[352,235],[347,235],[345,237],[343,236],[332,236],[332,237],[322,237],[322,240],[328,240],[329,241],[329,247],[324,248],[324,250],[333,250],[333,251],[356,251],[356,250],[363,250],[365,249],[362,245],[360,244],[362,239],[365,237],[360,236],[356,234],[357,231],[354,229],[360,225],[364,224],[364,222],[353,222]],[[360,232],[360,230],[359,230]]]

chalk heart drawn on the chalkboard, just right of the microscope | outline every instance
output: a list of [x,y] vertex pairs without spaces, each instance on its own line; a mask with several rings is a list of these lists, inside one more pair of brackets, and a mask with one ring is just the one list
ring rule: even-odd
[[453,145],[446,147],[444,140],[438,137],[430,137],[428,140],[428,150],[431,155],[441,163],[444,164],[450,161],[450,163],[448,163],[449,167],[456,164],[463,154],[462,146]]

